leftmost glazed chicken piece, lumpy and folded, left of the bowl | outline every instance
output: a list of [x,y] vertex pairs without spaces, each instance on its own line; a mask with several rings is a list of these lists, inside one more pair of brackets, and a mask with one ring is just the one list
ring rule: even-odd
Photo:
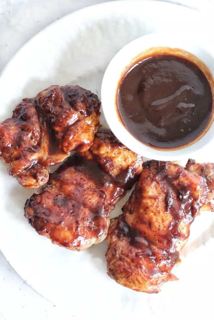
[[0,157],[25,188],[48,181],[47,167],[72,150],[85,151],[99,127],[98,97],[78,85],[54,85],[23,99],[12,118],[0,123]]

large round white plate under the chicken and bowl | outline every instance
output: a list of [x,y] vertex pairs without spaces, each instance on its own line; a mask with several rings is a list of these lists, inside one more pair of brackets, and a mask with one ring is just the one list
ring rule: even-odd
[[[4,68],[0,120],[11,116],[21,98],[32,97],[51,84],[79,84],[99,95],[107,64],[128,42],[148,33],[187,27],[204,28],[206,36],[208,23],[198,12],[155,1],[115,1],[67,15],[33,37]],[[72,315],[175,319],[179,313],[184,315],[185,306],[185,317],[211,312],[214,217],[210,212],[193,223],[181,254],[183,263],[175,268],[180,280],[163,285],[157,295],[148,295],[126,289],[107,276],[105,241],[83,252],[71,252],[39,236],[23,217],[25,200],[32,193],[0,164],[0,248],[32,288],[54,304],[70,306],[69,319]],[[121,212],[124,202],[112,216]]]

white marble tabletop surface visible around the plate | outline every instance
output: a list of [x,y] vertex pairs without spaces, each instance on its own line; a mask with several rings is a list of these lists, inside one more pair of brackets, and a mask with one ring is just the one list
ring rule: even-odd
[[[104,1],[0,0],[0,70],[39,30],[69,12],[100,2]],[[210,12],[214,9],[214,0],[169,2],[203,11],[208,19]],[[73,315],[69,306],[68,310],[61,310],[60,306],[53,306],[28,287],[0,253],[0,320],[11,320],[17,317],[32,320],[55,319],[59,316],[78,319],[78,315]]]

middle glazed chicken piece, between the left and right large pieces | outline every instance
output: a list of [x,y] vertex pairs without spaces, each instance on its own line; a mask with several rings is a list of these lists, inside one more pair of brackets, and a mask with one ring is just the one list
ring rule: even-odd
[[142,157],[113,133],[99,130],[89,151],[68,158],[41,193],[27,200],[25,217],[53,243],[84,250],[106,238],[109,214],[137,180],[142,164]]

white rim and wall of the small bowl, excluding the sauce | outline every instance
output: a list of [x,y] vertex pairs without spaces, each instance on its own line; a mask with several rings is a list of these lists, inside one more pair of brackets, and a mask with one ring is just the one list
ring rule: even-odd
[[[214,75],[214,48],[210,41],[203,35],[189,33],[161,33],[142,36],[124,46],[111,60],[103,77],[101,87],[102,108],[107,123],[116,137],[134,152],[155,160],[182,160],[195,158],[197,161],[212,161],[214,122],[202,137],[190,145],[179,149],[155,149],[137,140],[121,123],[117,111],[117,89],[121,76],[133,61],[145,55],[149,48],[168,47],[179,48],[192,53],[199,58]],[[149,49],[150,50],[150,49]],[[176,50],[176,49],[173,49]],[[152,51],[152,49],[151,49]],[[214,95],[213,77],[211,76],[211,88]],[[210,160],[208,160],[210,159]]]

